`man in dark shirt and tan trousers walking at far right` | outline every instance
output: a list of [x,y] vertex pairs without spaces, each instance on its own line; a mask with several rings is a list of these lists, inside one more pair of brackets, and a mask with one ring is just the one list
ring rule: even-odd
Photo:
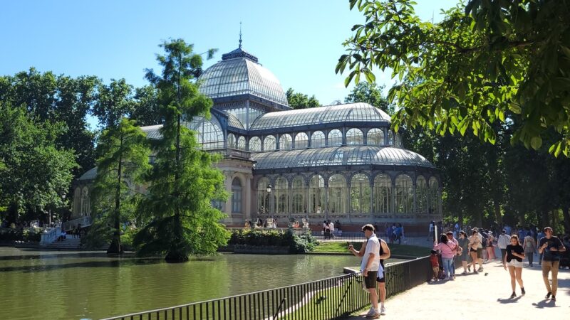
[[[544,228],[544,237],[539,242],[539,253],[542,254],[542,279],[546,285],[546,299],[552,296],[551,301],[556,301],[556,289],[558,289],[558,267],[560,265],[560,252],[566,251],[566,247],[558,237],[552,235],[552,228]],[[548,281],[548,273],[551,272],[552,287]]]

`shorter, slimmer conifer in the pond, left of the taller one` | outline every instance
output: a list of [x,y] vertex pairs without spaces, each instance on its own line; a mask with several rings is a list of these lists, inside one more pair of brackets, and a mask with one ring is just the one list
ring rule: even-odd
[[136,196],[135,186],[142,183],[142,175],[150,169],[146,135],[135,121],[120,119],[118,125],[108,127],[97,146],[97,176],[94,195],[98,214],[113,226],[113,239],[107,253],[123,253],[120,242],[120,223],[129,215],[128,201]]

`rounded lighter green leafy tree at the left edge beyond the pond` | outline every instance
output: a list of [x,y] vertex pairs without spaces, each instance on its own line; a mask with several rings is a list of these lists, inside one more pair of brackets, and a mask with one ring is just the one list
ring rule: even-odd
[[77,164],[73,151],[57,144],[61,123],[38,122],[24,107],[0,101],[0,203],[14,215],[60,208]]

